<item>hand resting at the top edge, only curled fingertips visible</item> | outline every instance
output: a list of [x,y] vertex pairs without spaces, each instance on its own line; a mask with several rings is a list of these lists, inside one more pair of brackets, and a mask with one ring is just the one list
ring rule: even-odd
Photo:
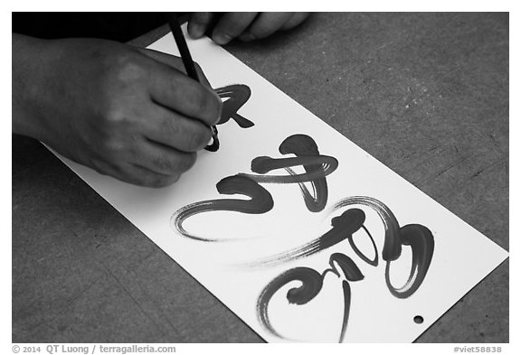
[[213,41],[226,44],[234,38],[244,42],[289,30],[308,18],[309,13],[192,13],[188,33],[199,38],[211,30]]

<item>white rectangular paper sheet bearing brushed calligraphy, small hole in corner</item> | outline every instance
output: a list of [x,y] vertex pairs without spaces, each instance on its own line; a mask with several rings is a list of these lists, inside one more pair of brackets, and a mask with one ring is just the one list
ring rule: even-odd
[[[220,150],[201,152],[192,170],[179,182],[162,189],[119,182],[59,157],[264,340],[414,341],[506,259],[503,248],[327,126],[230,53],[207,38],[197,41],[187,38],[187,41],[194,61],[204,68],[213,88],[242,84],[251,89],[251,98],[238,113],[254,126],[242,128],[233,119],[218,126]],[[171,34],[149,48],[178,55]],[[279,153],[279,145],[291,135],[308,135],[316,142],[320,154],[334,157],[338,162],[336,170],[326,177],[325,209],[308,210],[297,183],[260,183],[274,202],[273,208],[265,213],[216,210],[185,220],[186,233],[216,241],[187,238],[175,229],[172,219],[175,212],[194,202],[248,200],[243,195],[220,194],[216,184],[237,173],[254,174],[251,161],[256,157],[294,156]],[[304,173],[302,167],[295,166],[293,170]],[[289,176],[289,173],[277,169],[267,175]],[[308,182],[305,186],[313,194]],[[376,210],[366,204],[335,210],[336,202],[353,196],[384,203],[400,228],[413,224],[431,231],[434,240],[431,264],[422,285],[410,296],[393,295],[386,285],[387,262],[382,254],[384,223]],[[305,257],[273,259],[324,235],[332,229],[334,217],[353,209],[365,214],[364,227],[374,238],[377,266],[360,257],[347,239]],[[353,243],[367,259],[374,258],[370,239],[360,226],[353,233]],[[334,254],[349,257],[364,278],[359,280],[339,272],[338,262],[329,262]],[[261,262],[266,260],[270,262]],[[403,246],[401,256],[390,263],[389,278],[395,288],[406,284],[411,265],[412,248]],[[302,285],[299,281],[280,287],[270,284],[289,270],[305,270],[305,275],[313,276],[310,276],[313,282],[322,283],[313,299],[301,301],[303,304],[289,303],[288,291]],[[315,270],[315,274],[310,270]],[[317,275],[322,277],[321,281]],[[416,276],[412,273],[412,277]],[[310,289],[317,287],[309,282],[300,291],[292,291],[293,294],[297,298],[309,294]],[[267,306],[259,309],[259,299],[263,292],[266,295],[267,285],[271,285],[273,295]],[[416,316],[421,316],[423,322],[414,322]]]

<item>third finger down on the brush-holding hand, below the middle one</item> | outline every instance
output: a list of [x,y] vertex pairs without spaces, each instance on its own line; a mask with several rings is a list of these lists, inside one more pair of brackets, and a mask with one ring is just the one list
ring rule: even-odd
[[143,142],[137,154],[133,156],[135,165],[146,168],[150,172],[163,175],[180,175],[194,166],[196,153],[184,153],[166,145],[151,141]]

